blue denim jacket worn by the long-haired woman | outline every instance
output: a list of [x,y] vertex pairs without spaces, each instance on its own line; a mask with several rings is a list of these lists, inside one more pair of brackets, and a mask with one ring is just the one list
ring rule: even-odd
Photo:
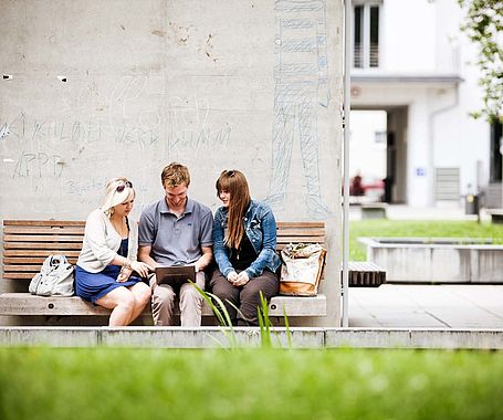
[[[229,261],[230,248],[224,244],[228,211],[220,207],[213,221],[213,254],[220,272],[227,277],[234,271]],[[264,269],[273,273],[281,265],[276,254],[276,221],[271,208],[260,201],[251,200],[243,217],[244,232],[256,253],[256,260],[245,270],[249,277],[261,275]]]

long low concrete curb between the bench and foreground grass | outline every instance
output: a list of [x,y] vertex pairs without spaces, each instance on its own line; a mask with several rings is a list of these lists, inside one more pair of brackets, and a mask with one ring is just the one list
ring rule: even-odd
[[[271,328],[276,347],[289,347],[285,328]],[[503,329],[291,328],[293,348],[503,349]],[[234,328],[240,347],[260,347],[260,329]],[[228,348],[219,327],[0,327],[1,346]]]

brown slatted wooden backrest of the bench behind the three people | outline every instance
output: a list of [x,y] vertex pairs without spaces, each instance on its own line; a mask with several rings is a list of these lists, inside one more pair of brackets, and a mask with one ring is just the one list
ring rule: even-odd
[[[4,220],[3,279],[32,279],[51,254],[75,264],[84,238],[84,221]],[[324,222],[277,222],[277,250],[289,243],[325,243]]]

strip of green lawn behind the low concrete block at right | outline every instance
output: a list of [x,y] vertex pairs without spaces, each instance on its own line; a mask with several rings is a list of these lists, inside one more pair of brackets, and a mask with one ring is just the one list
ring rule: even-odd
[[349,224],[349,260],[366,261],[360,237],[491,238],[503,243],[503,224],[452,220],[354,220]]

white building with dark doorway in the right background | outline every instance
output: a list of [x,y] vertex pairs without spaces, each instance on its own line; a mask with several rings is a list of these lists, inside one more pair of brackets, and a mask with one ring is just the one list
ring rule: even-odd
[[[352,138],[350,167],[373,175],[366,168],[384,159],[391,202],[459,204],[488,186],[501,191],[501,125],[469,116],[482,91],[462,18],[457,0],[353,0],[352,133],[361,130],[355,112],[384,111],[375,139],[387,146],[358,150]],[[489,207],[501,206],[494,192]]]

